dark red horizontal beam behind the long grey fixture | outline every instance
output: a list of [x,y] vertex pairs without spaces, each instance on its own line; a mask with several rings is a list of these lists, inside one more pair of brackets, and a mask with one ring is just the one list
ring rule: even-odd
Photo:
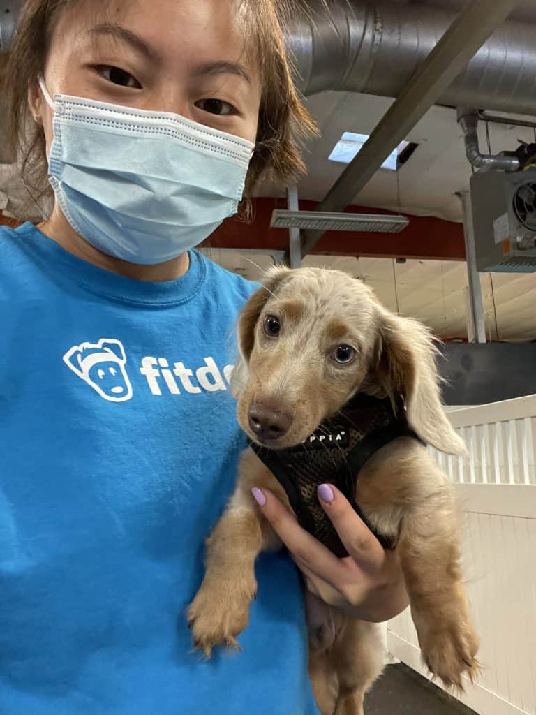
[[[287,229],[270,228],[274,209],[284,209],[285,199],[254,199],[254,220],[228,219],[204,243],[206,247],[237,251],[284,252]],[[300,209],[312,211],[316,202],[300,200]],[[350,206],[352,213],[392,214],[382,209]],[[314,254],[383,258],[465,260],[463,226],[434,217],[410,216],[410,225],[399,234],[329,231],[314,247]]]

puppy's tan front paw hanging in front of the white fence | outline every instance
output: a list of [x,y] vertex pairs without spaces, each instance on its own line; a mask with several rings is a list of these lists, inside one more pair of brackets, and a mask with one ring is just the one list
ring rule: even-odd
[[480,664],[476,659],[479,641],[467,623],[437,623],[422,638],[422,658],[430,671],[445,686],[463,691],[462,676],[477,679]]

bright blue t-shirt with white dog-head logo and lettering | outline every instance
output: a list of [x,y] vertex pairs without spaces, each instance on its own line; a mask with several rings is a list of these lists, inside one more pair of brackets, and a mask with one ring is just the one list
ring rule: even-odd
[[0,713],[312,715],[299,576],[263,555],[241,652],[185,609],[244,438],[232,335],[252,285],[179,280],[0,230]]

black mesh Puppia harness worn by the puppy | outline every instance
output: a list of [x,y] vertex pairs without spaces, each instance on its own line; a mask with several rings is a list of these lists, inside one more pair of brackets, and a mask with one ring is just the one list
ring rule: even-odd
[[251,441],[249,444],[281,483],[299,523],[340,558],[348,553],[319,504],[317,488],[323,483],[334,484],[382,546],[393,548],[394,544],[374,531],[354,503],[355,485],[367,460],[403,436],[420,440],[407,423],[402,401],[395,412],[389,398],[357,393],[334,418],[322,423],[297,447],[269,450]]

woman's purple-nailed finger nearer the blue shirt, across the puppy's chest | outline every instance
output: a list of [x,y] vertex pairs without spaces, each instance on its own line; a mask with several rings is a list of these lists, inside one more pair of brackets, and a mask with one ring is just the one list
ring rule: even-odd
[[342,583],[347,569],[314,536],[299,526],[296,518],[268,489],[254,488],[252,494],[262,513],[294,557],[300,568],[310,571],[329,583]]

